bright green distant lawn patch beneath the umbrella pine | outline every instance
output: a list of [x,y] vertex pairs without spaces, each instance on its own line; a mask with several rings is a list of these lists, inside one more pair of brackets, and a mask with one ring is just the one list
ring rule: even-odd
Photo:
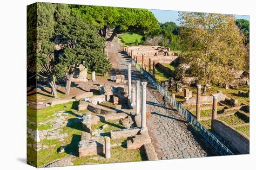
[[138,39],[138,44],[141,42],[142,36],[136,33],[123,33],[119,35],[119,38],[121,39],[121,44],[127,46],[127,45],[136,45],[135,41]]

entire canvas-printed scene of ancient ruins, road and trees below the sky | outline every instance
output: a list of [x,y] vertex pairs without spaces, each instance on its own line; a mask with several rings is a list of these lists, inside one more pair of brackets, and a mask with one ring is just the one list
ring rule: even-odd
[[249,154],[249,40],[234,15],[201,13],[209,35],[199,13],[180,15],[27,6],[27,164]]

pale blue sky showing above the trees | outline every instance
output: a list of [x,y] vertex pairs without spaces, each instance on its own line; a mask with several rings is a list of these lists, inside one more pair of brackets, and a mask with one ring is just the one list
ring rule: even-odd
[[[177,19],[179,18],[178,11],[167,11],[167,10],[153,10],[149,9],[152,13],[154,13],[156,19],[158,19],[159,22],[165,23],[165,22],[175,22],[176,25],[180,25],[179,21]],[[249,20],[249,15],[235,15],[236,19],[247,19]]]

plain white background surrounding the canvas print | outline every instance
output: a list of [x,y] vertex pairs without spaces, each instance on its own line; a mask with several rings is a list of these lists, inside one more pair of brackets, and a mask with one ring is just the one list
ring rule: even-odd
[[[205,157],[120,164],[83,165],[49,170],[255,169],[255,32],[253,0],[43,0],[101,6],[122,6],[250,15],[250,155]],[[0,4],[0,169],[30,170],[26,164],[26,6],[35,0],[1,0]],[[254,130],[253,130],[254,129]]]

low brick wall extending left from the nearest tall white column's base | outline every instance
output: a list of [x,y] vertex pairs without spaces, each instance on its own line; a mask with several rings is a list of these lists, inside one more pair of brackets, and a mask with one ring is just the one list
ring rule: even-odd
[[135,136],[136,134],[138,134],[138,132],[140,132],[140,130],[141,129],[137,127],[114,130],[110,132],[110,137],[111,139],[128,138]]

